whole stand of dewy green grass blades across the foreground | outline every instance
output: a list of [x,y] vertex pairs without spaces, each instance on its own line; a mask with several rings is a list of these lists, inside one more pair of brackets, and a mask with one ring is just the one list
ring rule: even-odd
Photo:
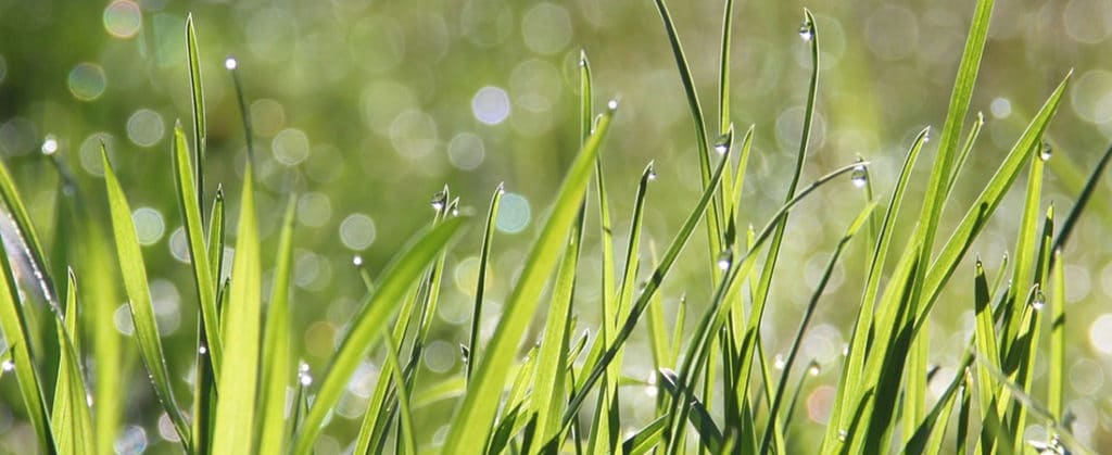
[[[433,340],[446,257],[467,226],[475,224],[458,214],[459,197],[453,197],[447,187],[438,194],[435,217],[396,250],[377,277],[359,269],[366,283],[359,310],[328,365],[319,374],[309,370],[298,362],[290,334],[291,308],[302,305],[289,291],[296,198],[290,196],[280,218],[277,247],[264,249],[248,144],[235,245],[226,246],[229,226],[225,226],[222,187],[211,200],[205,192],[202,59],[189,19],[185,33],[192,144],[178,125],[171,154],[161,166],[173,175],[191,258],[198,324],[196,350],[185,356],[193,368],[193,387],[182,394],[167,369],[167,363],[180,362],[182,353],[163,348],[156,324],[129,205],[131,195],[141,189],[125,188],[118,175],[138,170],[113,168],[108,150],[102,150],[110,222],[102,226],[86,211],[81,198],[91,195],[58,191],[59,211],[66,216],[57,218],[54,229],[73,235],[44,245],[7,165],[0,166],[0,197],[10,219],[3,236],[21,246],[6,249],[0,261],[0,322],[8,346],[0,375],[14,372],[22,399],[19,418],[33,427],[34,444],[47,453],[111,451],[126,409],[125,392],[111,384],[119,380],[125,365],[121,343],[133,343],[158,405],[186,453],[314,453],[353,374],[370,356],[380,356],[376,358],[383,359],[383,367],[364,419],[357,433],[337,435],[351,441],[356,453],[795,453],[803,449],[795,441],[802,425],[795,413],[808,374],[795,378],[794,373],[804,363],[807,373],[818,368],[801,357],[803,340],[816,309],[828,305],[824,290],[843,255],[861,246],[868,251],[860,283],[862,297],[845,355],[833,366],[837,387],[820,452],[1030,453],[1040,447],[1092,452],[1071,434],[1063,398],[1069,277],[1062,256],[1112,149],[1088,177],[1073,164],[1060,165],[1064,175],[1072,176],[1068,186],[1076,188],[1079,196],[1055,230],[1053,207],[1043,210],[1041,206],[1043,175],[1055,167],[1044,136],[1070,75],[1063,75],[1048,93],[996,171],[984,179],[980,196],[955,208],[965,215],[951,228],[942,214],[947,204],[959,204],[951,197],[954,182],[963,170],[975,171],[967,158],[977,148],[983,117],[979,115],[969,128],[966,123],[993,1],[980,0],[973,11],[929,177],[923,181],[914,177],[920,161],[927,159],[923,154],[927,128],[907,145],[893,188],[874,187],[866,160],[821,169],[826,171],[823,177],[803,181],[817,109],[822,42],[822,30],[811,11],[804,10],[800,34],[811,73],[803,88],[807,102],[793,175],[784,182],[782,207],[763,228],[744,229],[739,226],[753,220],[742,217],[743,187],[749,152],[761,138],[752,127],[735,135],[729,113],[733,1],[725,2],[723,14],[718,116],[713,126],[706,123],[708,116],[668,8],[663,0],[655,6],[695,127],[697,157],[693,160],[698,161],[699,198],[687,212],[669,214],[683,224],[663,254],[657,256],[656,246],[649,245],[653,254],[643,255],[645,210],[659,197],[653,191],[656,169],[649,162],[636,189],[628,235],[615,235],[619,224],[610,211],[610,182],[599,156],[615,146],[607,142],[607,136],[618,128],[614,118],[622,112],[617,100],[600,113],[595,109],[592,66],[584,52],[578,73],[580,150],[524,255],[493,336],[485,339],[479,320],[487,298],[485,284],[494,267],[490,254],[498,248],[495,224],[504,194],[503,186],[495,189],[481,236],[470,332],[461,345],[466,366],[456,377],[435,383],[421,377],[419,365]],[[235,73],[232,80],[250,140],[242,87]],[[708,137],[708,130],[717,131],[716,139]],[[57,169],[64,177],[61,161]],[[1013,188],[1023,176],[1025,188]],[[798,212],[800,202],[816,191],[851,180],[853,186],[865,187],[866,197],[856,212]],[[64,178],[60,181],[68,185]],[[911,200],[910,188],[923,191],[917,212],[919,201]],[[971,258],[970,250],[1013,190],[1023,192],[1024,205],[1016,219],[1011,268],[1001,266],[996,278],[990,279],[990,270],[980,258]],[[592,206],[598,210],[597,225],[588,222]],[[781,362],[768,358],[762,330],[768,306],[780,305],[771,293],[773,280],[793,279],[798,268],[780,260],[781,249],[795,241],[787,234],[792,216],[845,218],[847,227],[837,243],[826,246],[831,254],[822,278]],[[701,225],[706,254],[682,256]],[[582,247],[585,234],[593,229],[603,243],[599,257],[585,255]],[[901,237],[897,231],[910,235]],[[616,238],[626,244],[616,245]],[[946,240],[935,248],[941,238]],[[236,254],[231,264],[224,264],[228,246]],[[616,260],[618,255],[624,260]],[[698,306],[681,303],[672,320],[675,328],[668,330],[661,287],[677,261],[696,257],[705,263],[709,300]],[[597,327],[583,327],[577,319],[575,296],[584,291],[580,266],[587,261],[597,261],[602,274],[596,305],[603,318]],[[972,276],[957,273],[960,264],[971,261],[975,263]],[[271,264],[274,273],[265,281],[265,266]],[[651,270],[648,278],[638,284],[644,270]],[[133,324],[130,339],[115,334],[102,316],[111,309],[98,301],[107,300],[103,296],[111,295],[119,283]],[[264,283],[272,286],[269,293]],[[937,377],[929,364],[930,320],[941,293],[951,287],[967,290],[965,305],[975,314],[975,330],[956,373]],[[92,296],[88,305],[78,301],[82,296]],[[519,353],[532,343],[538,310],[547,314],[542,335],[522,359]],[[81,319],[79,311],[101,316]],[[686,318],[695,322],[694,330],[684,329]],[[95,323],[86,326],[82,320]],[[589,335],[576,335],[585,328]],[[638,332],[647,333],[655,369],[648,383],[629,377],[623,368],[625,357],[636,348],[633,339]],[[91,339],[92,347],[81,339]],[[1049,350],[1049,360],[1041,358],[1043,350]],[[1045,385],[1034,376],[1041,362],[1050,363]],[[927,394],[931,380],[946,380],[944,392],[933,400]],[[638,392],[631,392],[632,386]],[[624,403],[643,399],[638,397],[645,386],[664,393],[655,395],[647,421],[635,419]],[[454,402],[449,426],[443,441],[429,444],[420,437],[415,412],[444,399]],[[1049,428],[1050,438],[1026,441],[1030,423]]]

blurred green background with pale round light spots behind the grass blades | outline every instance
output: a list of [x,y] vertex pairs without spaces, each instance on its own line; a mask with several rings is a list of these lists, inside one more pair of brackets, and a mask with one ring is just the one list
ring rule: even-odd
[[[783,200],[798,147],[810,76],[796,33],[803,7],[815,13],[822,48],[804,180],[862,156],[873,161],[874,187],[886,198],[914,135],[927,125],[941,130],[972,3],[738,2],[731,110],[739,130],[755,126],[743,226],[759,228]],[[713,119],[723,4],[693,0],[669,7],[703,108]],[[226,58],[234,57],[254,123],[266,245],[276,241],[287,195],[298,195],[295,339],[314,370],[326,366],[365,293],[353,257],[359,255],[373,275],[380,270],[431,219],[429,198],[445,184],[461,197],[465,211],[477,215],[485,214],[498,182],[509,191],[497,220],[489,317],[484,322],[487,332],[493,329],[499,303],[578,148],[580,49],[590,58],[596,105],[610,97],[622,100],[603,151],[618,257],[624,255],[636,179],[649,160],[656,161],[659,178],[649,191],[644,255],[654,246],[663,249],[699,192],[694,130],[659,17],[648,0],[0,0],[0,154],[49,244],[58,179],[41,151],[61,155],[102,214],[98,154],[101,141],[108,146],[146,245],[170,353],[191,352],[196,324],[169,161],[175,122],[190,125],[185,67],[190,12],[209,116],[206,190],[211,196],[217,184],[225,185],[235,220],[247,154],[225,69]],[[1071,68],[1068,99],[1048,133],[1054,158],[1044,204],[1054,202],[1060,214],[1072,207],[1079,176],[1088,174],[1112,136],[1110,37],[1112,3],[1104,0],[997,2],[973,98],[985,129],[947,206],[949,226]],[[926,172],[921,164],[913,192],[922,191]],[[1066,406],[1076,416],[1073,431],[1090,447],[1112,444],[1104,398],[1112,390],[1109,189],[1101,186],[1065,251],[1072,338]],[[834,241],[863,204],[864,195],[845,181],[796,211],[781,257],[792,273],[774,281],[767,309],[770,356],[787,348]],[[1014,244],[1021,207],[1021,195],[1013,191],[940,301],[931,343],[943,377],[954,374],[972,333],[972,255],[979,254],[990,271],[999,268]],[[595,211],[590,214],[589,222],[595,222]],[[448,257],[437,342],[427,347],[424,385],[457,375],[461,366],[457,345],[466,339],[469,324],[479,224]],[[905,222],[900,229],[910,227]],[[596,229],[588,233],[585,255],[597,258]],[[682,295],[692,308],[701,308],[711,291],[705,236],[694,239],[663,288],[669,315]],[[272,263],[266,250],[264,255]],[[820,305],[820,320],[805,340],[803,358],[831,367],[810,383],[802,402],[806,409],[801,411],[816,428],[828,413],[833,366],[858,305],[864,257],[864,245],[856,245],[838,266]],[[596,259],[586,263],[576,311],[580,326],[596,327],[599,266]],[[118,327],[128,332],[127,310],[117,316]],[[170,368],[185,378],[189,362],[171,355]],[[331,433],[321,438],[321,452],[347,446],[377,380],[377,362],[368,359],[357,373]],[[125,421],[130,426],[118,449],[168,451],[173,446],[162,437],[172,437],[172,429],[159,422],[138,360],[130,363],[132,382],[121,386],[131,387],[135,399],[128,404]],[[648,377],[649,365],[647,354],[626,356],[626,370],[634,377]],[[1044,374],[1036,372],[1036,378]],[[937,393],[944,385],[935,380],[932,388]],[[32,441],[32,432],[11,408],[19,399],[14,382],[6,377],[0,389],[0,452],[14,451]],[[629,426],[644,424],[638,418],[647,414],[631,406]],[[418,412],[421,441],[438,436],[450,409],[447,402]],[[1033,437],[1042,435],[1036,425],[1030,431]]]

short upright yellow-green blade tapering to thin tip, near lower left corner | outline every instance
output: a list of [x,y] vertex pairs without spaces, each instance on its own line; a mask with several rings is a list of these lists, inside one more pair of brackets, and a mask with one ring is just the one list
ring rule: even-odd
[[58,380],[54,384],[53,409],[50,413],[51,428],[58,452],[62,454],[95,453],[92,415],[89,412],[88,388],[80,365],[81,349],[78,346],[77,280],[69,270],[66,286],[64,327],[59,324],[58,340],[61,358],[58,365]]

